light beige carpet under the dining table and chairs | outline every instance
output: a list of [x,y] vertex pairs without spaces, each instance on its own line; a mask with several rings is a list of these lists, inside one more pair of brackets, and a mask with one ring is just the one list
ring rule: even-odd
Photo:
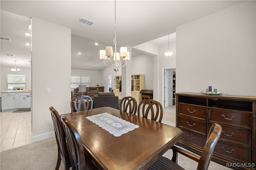
[[[172,158],[172,151],[168,150],[164,156]],[[1,170],[54,170],[58,157],[56,138],[52,137],[14,149],[0,152]],[[196,170],[197,162],[178,155],[178,163],[186,170]],[[64,169],[61,162],[60,170]],[[70,168],[71,169],[71,168]],[[209,170],[230,170],[225,166],[210,162]]]

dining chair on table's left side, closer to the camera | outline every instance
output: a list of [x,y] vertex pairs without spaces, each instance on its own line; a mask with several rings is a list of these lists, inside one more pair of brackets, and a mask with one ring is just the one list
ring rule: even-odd
[[62,124],[67,139],[68,154],[72,170],[96,170],[98,169],[89,158],[85,157],[84,146],[76,127],[66,116],[62,116]]

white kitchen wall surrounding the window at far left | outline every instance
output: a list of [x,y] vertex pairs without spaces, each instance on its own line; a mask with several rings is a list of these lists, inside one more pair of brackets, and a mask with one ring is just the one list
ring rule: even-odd
[[[25,74],[26,75],[26,89],[31,89],[31,69],[30,68],[20,68],[20,71],[17,74]],[[7,77],[6,74],[14,74],[14,72],[11,71],[10,67],[2,67],[1,66],[1,90],[5,91],[7,90]],[[24,89],[25,90],[25,89]]]

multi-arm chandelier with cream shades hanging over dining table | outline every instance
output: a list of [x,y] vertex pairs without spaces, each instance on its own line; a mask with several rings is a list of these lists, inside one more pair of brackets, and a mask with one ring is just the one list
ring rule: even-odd
[[[121,47],[120,53],[116,53],[116,0],[115,0],[115,53],[113,55],[113,48],[111,46],[107,46],[105,50],[100,50],[100,59],[103,61],[104,65],[107,67],[113,67],[114,71],[118,71],[118,67],[126,66],[128,60],[130,60],[130,53],[127,51],[127,47]],[[111,63],[110,59],[114,56],[114,63]],[[120,57],[122,57],[122,64],[118,65],[118,61],[120,61]],[[106,65],[105,60],[108,59],[110,65]],[[124,63],[125,62],[125,63]]]

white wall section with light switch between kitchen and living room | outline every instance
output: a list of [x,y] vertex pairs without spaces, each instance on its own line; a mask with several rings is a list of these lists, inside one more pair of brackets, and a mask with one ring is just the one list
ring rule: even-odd
[[[71,30],[32,18],[32,141],[54,136],[49,107],[69,113]],[[51,93],[46,93],[46,87]]]

